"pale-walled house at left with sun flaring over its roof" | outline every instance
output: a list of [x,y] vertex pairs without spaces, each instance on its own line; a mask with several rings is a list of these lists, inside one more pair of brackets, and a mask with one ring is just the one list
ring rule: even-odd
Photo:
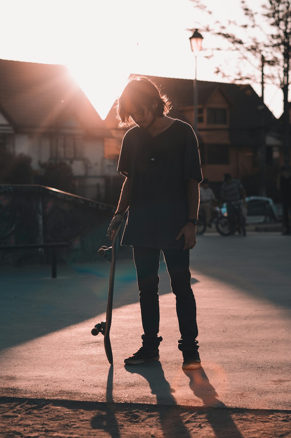
[[[116,135],[120,150],[123,134]],[[0,60],[0,146],[30,155],[35,170],[39,162],[68,162],[76,194],[104,199],[116,177],[115,143],[67,67]]]

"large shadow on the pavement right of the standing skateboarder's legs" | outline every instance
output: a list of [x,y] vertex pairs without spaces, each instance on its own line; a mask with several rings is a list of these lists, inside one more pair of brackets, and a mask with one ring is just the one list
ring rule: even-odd
[[281,235],[205,235],[197,237],[190,266],[197,275],[215,278],[250,297],[290,309],[290,259],[290,239]]

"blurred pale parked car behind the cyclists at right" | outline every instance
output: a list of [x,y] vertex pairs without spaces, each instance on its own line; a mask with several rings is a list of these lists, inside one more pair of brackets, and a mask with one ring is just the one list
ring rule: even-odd
[[[222,206],[222,213],[226,213],[226,204]],[[279,222],[277,209],[271,198],[264,196],[249,196],[246,198],[246,224]]]

